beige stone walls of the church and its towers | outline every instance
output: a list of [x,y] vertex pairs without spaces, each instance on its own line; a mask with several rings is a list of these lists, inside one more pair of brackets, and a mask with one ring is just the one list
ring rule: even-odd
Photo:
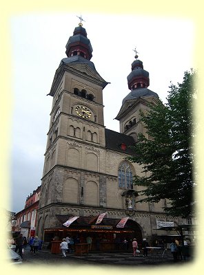
[[[39,200],[39,238],[43,239],[44,229],[59,225],[56,214],[96,216],[107,212],[112,219],[128,216],[147,238],[157,234],[156,220],[181,223],[179,218],[165,216],[165,200],[136,203],[136,197],[132,197],[128,209],[128,198],[123,194],[129,189],[139,191],[139,187],[120,186],[120,166],[128,166],[132,176],[141,175],[142,170],[125,160],[130,153],[121,149],[118,140],[113,141],[115,148],[108,146],[103,122],[103,88],[108,83],[89,63],[80,59],[72,63],[72,56],[67,59],[70,63],[61,63],[50,91],[53,104]],[[156,104],[155,96],[147,94],[123,103],[116,119],[124,145],[125,136],[136,141],[138,133],[145,134],[139,111],[145,111],[148,102]]]

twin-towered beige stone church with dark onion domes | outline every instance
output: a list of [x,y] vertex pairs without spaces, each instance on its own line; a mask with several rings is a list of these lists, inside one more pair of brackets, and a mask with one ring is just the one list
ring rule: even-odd
[[[103,250],[105,245],[113,250],[116,241],[125,238],[152,242],[166,234],[156,229],[158,221],[179,224],[183,219],[164,214],[165,199],[159,203],[136,202],[139,187],[132,179],[141,175],[141,166],[126,158],[134,154],[131,146],[137,142],[138,133],[147,135],[139,111],[145,112],[149,102],[159,100],[158,94],[148,89],[149,73],[136,55],[128,75],[130,91],[115,118],[120,132],[112,131],[103,119],[103,89],[108,82],[91,61],[92,45],[81,23],[65,47],[67,57],[57,68],[49,94],[53,101],[37,235],[43,241],[68,235],[84,241],[92,236],[93,250],[97,238]],[[103,219],[98,223],[100,214]],[[63,225],[72,217],[69,226]]]

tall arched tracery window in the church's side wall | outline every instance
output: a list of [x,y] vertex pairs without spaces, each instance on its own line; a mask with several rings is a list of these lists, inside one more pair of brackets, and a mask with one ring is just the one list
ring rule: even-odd
[[119,166],[119,187],[132,189],[132,168],[128,162],[122,162]]

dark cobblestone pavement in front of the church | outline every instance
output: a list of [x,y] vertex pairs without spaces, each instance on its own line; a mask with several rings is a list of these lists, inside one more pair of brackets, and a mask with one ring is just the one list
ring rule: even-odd
[[23,265],[120,265],[127,267],[134,265],[181,265],[183,263],[185,262],[179,261],[178,263],[174,263],[170,253],[165,253],[163,256],[161,254],[150,254],[148,257],[134,257],[131,252],[90,252],[83,256],[75,256],[74,253],[67,253],[67,257],[63,258],[61,254],[52,254],[50,250],[39,250],[39,252],[34,255],[26,248],[23,255]]

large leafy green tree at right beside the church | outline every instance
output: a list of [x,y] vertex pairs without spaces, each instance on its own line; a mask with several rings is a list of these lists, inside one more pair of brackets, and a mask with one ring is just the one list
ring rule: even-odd
[[169,199],[164,211],[172,216],[187,217],[194,213],[194,121],[196,98],[195,72],[185,72],[183,83],[170,86],[167,103],[150,105],[141,112],[148,138],[142,133],[128,159],[143,167],[134,184],[143,186],[138,202]]

